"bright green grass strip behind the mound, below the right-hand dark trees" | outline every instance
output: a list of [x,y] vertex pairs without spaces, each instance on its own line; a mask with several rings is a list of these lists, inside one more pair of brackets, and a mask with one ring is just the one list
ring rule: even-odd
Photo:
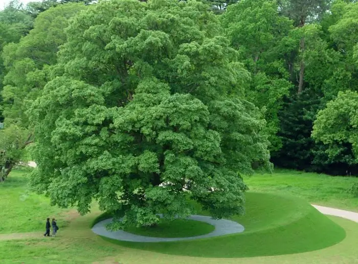
[[358,183],[357,177],[277,169],[273,174],[244,177],[251,191],[290,194],[312,204],[358,212],[358,197],[347,190]]

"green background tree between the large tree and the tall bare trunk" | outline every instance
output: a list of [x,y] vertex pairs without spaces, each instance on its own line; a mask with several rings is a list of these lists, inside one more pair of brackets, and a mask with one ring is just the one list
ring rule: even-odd
[[281,147],[276,136],[279,130],[277,114],[282,98],[293,86],[286,80],[288,72],[278,46],[292,29],[292,21],[279,15],[276,1],[266,0],[246,0],[232,5],[221,20],[231,46],[238,50],[240,59],[252,74],[245,94],[262,108],[270,148],[277,150]]

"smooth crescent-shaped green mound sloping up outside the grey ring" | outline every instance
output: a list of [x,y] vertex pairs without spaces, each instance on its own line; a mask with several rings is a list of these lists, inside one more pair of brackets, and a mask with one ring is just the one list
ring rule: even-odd
[[[343,228],[295,197],[249,192],[246,208],[244,216],[232,217],[245,227],[240,234],[165,243],[103,239],[165,254],[225,258],[314,251],[337,244],[346,236]],[[198,214],[207,215],[204,211]]]

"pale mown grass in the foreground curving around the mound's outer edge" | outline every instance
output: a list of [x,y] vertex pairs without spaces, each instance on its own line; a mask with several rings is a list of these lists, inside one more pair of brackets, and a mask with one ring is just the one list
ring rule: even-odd
[[[323,250],[299,254],[261,256],[249,258],[206,258],[173,256],[144,251],[109,243],[95,235],[88,226],[97,212],[75,219],[56,238],[0,241],[2,263],[122,263],[122,264],[336,264],[356,263],[358,253],[354,245],[358,237],[358,225],[340,217],[329,217],[347,231],[347,237],[339,244]],[[260,247],[257,244],[257,247]],[[54,250],[56,249],[56,250]]]

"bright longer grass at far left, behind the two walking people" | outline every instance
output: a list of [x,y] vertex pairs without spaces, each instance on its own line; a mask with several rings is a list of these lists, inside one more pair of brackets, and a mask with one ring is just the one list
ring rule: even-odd
[[58,224],[69,224],[69,211],[51,207],[49,199],[33,193],[28,187],[31,169],[12,171],[0,183],[0,233],[44,231],[47,217],[55,217]]

